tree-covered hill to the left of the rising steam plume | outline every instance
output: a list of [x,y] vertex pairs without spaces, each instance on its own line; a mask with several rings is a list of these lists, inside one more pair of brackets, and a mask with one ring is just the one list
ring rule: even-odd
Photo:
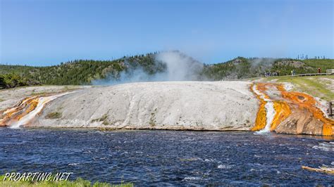
[[[166,65],[156,62],[156,53],[141,56],[123,57],[117,60],[73,60],[60,65],[32,67],[25,65],[0,65],[0,75],[4,79],[0,87],[38,84],[82,85],[92,84],[97,79],[118,79],[120,72],[142,68],[149,75],[166,70]],[[7,86],[8,85],[8,86]]]

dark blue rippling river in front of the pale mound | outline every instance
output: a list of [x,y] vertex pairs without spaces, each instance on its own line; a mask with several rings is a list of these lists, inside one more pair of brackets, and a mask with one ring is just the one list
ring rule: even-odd
[[334,185],[334,140],[219,131],[0,128],[0,172],[73,172],[135,185]]

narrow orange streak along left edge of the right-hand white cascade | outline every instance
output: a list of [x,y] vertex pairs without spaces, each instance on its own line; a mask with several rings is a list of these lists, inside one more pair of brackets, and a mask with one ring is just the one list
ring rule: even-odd
[[[255,87],[256,89],[258,89],[258,84],[256,84]],[[266,127],[266,108],[264,107],[264,105],[266,105],[266,101],[264,101],[264,99],[262,99],[259,95],[257,95],[254,92],[253,86],[251,86],[250,88],[251,88],[251,91],[256,95],[256,98],[258,98],[260,101],[259,110],[257,111],[257,114],[256,114],[255,125],[251,130],[259,131],[261,129],[264,129],[264,127]],[[264,90],[265,87],[261,87],[261,89]]]

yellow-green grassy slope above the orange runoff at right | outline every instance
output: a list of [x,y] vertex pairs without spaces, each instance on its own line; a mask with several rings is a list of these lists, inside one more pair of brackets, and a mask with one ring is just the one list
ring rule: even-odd
[[326,101],[334,100],[334,75],[314,77],[266,77],[261,82],[290,82],[295,87],[294,91],[309,93]]

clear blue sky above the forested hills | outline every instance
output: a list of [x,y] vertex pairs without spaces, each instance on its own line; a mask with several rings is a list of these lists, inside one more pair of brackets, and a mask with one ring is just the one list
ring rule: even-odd
[[0,1],[2,64],[54,65],[166,50],[204,63],[334,56],[332,0]]

